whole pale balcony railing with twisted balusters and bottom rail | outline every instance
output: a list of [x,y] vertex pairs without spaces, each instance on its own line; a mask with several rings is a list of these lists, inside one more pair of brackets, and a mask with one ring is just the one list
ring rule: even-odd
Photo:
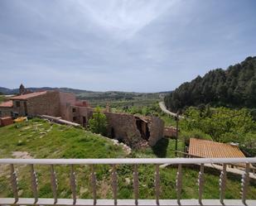
[[[175,159],[0,159],[0,165],[10,165],[10,184],[12,185],[13,198],[0,198],[0,205],[129,205],[129,206],[151,206],[151,205],[249,205],[255,206],[255,199],[246,199],[249,189],[249,167],[256,163],[256,158],[222,158],[222,159],[207,159],[207,158],[175,158]],[[177,199],[160,199],[160,165],[176,165],[176,198]],[[219,164],[223,169],[220,172],[220,199],[202,199],[204,190],[204,165],[205,164]],[[239,199],[225,199],[226,180],[227,180],[227,165],[229,164],[244,164],[244,174],[241,177],[241,196]],[[33,197],[20,198],[18,195],[17,172],[15,170],[17,165],[30,166],[31,191]],[[38,196],[38,182],[36,177],[36,170],[34,165],[49,165],[51,171],[51,190],[52,198],[42,199]],[[70,191],[72,199],[59,199],[57,196],[57,180],[55,165],[69,165],[70,166]],[[90,183],[93,199],[77,199],[76,194],[76,180],[74,165],[89,165],[90,166]],[[95,165],[110,165],[111,182],[113,189],[113,199],[96,199],[96,175]],[[133,165],[133,194],[134,199],[118,199],[118,174],[117,165]],[[138,195],[138,165],[154,165],[155,166],[155,199],[139,199]],[[200,165],[198,175],[198,199],[181,199],[182,189],[182,165]],[[0,171],[2,172],[2,171]]]

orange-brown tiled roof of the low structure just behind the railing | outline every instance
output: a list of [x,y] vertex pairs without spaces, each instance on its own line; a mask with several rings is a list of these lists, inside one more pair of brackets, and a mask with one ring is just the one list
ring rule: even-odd
[[190,139],[189,154],[191,156],[200,156],[205,158],[232,158],[245,157],[238,146],[220,143],[216,141]]

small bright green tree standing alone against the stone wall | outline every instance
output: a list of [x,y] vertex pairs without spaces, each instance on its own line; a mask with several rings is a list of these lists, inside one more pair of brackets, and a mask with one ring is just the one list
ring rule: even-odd
[[93,117],[89,119],[89,130],[104,136],[107,134],[107,117],[99,107],[95,108]]

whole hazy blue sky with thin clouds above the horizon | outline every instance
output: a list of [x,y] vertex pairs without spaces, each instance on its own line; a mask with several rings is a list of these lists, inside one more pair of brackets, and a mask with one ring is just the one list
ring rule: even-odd
[[176,89],[256,55],[254,0],[0,0],[1,87]]

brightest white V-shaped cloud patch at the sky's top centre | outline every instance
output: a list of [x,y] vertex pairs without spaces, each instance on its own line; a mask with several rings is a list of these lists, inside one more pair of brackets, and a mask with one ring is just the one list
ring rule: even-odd
[[169,1],[79,1],[80,12],[119,38],[129,38],[174,6]]

